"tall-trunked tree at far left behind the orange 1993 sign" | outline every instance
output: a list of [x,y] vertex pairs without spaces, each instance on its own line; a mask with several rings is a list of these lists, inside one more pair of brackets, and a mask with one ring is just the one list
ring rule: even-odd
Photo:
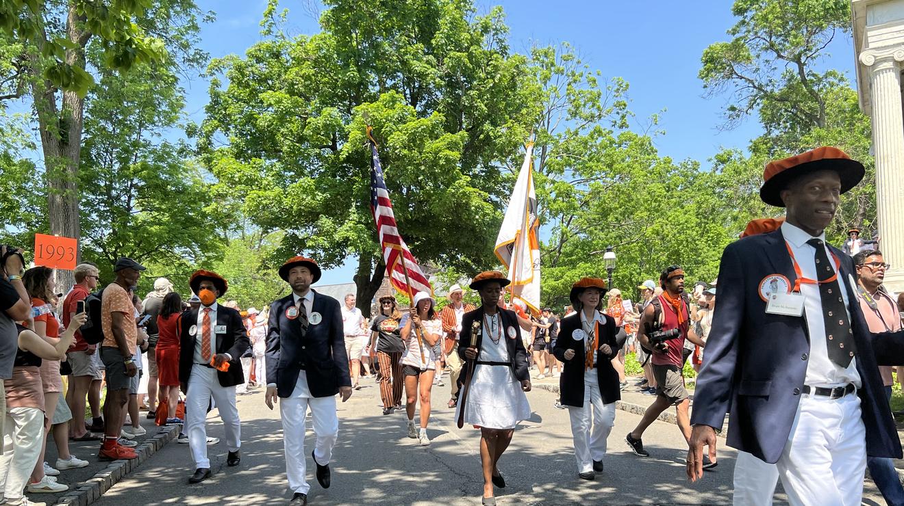
[[[85,95],[89,75],[89,44],[98,47],[98,69],[127,70],[136,63],[161,59],[180,51],[177,43],[196,32],[197,7],[191,0],[88,0],[39,2],[15,0],[0,4],[0,100],[27,98],[41,136],[49,232],[80,238],[77,182]],[[62,272],[61,286],[71,285]]]

